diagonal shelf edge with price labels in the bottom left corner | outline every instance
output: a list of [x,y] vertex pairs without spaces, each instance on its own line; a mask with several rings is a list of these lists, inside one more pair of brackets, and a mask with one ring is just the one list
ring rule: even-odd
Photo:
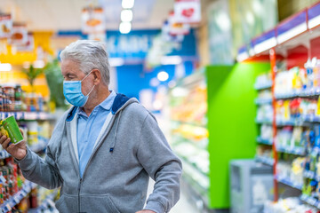
[[9,201],[5,201],[4,204],[2,204],[0,206],[0,210],[2,213],[11,211],[12,208],[17,205],[18,203],[20,203],[20,201],[27,196],[28,193],[31,192],[32,189],[36,188],[36,184],[26,180],[26,182],[24,183],[24,185],[22,186],[22,189],[14,194]]

